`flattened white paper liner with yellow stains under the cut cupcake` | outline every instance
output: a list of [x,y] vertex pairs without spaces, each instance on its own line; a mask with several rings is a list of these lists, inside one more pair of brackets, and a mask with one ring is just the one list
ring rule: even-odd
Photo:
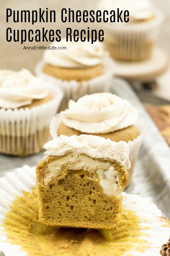
[[18,168],[0,179],[0,250],[6,256],[159,255],[170,222],[148,199],[123,196],[118,228],[57,229],[39,221],[35,168]]

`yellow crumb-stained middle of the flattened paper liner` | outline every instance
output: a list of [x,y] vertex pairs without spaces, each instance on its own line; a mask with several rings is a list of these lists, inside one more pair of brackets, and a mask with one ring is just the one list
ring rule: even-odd
[[138,217],[123,209],[118,229],[57,229],[39,221],[37,188],[14,199],[3,220],[8,242],[20,245],[28,255],[122,255],[133,247],[145,252],[151,245],[139,236],[142,230]]

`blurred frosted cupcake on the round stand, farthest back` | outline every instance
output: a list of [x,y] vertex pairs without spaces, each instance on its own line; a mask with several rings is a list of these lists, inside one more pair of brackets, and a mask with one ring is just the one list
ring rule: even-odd
[[[141,61],[150,57],[163,15],[148,0],[101,0],[97,10],[128,10],[129,22],[101,22],[106,49],[114,59]],[[117,20],[116,12],[116,20]]]

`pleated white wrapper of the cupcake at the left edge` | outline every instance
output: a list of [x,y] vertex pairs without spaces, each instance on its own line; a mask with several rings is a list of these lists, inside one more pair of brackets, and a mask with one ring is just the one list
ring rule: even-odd
[[0,152],[25,156],[39,152],[49,140],[49,123],[56,114],[63,92],[49,85],[53,99],[33,108],[0,109]]

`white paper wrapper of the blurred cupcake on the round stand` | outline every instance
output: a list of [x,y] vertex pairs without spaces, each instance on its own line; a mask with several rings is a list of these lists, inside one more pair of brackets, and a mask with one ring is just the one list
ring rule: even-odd
[[136,24],[100,24],[105,33],[105,47],[114,59],[141,61],[150,57],[163,22],[162,13],[155,14],[153,20]]

